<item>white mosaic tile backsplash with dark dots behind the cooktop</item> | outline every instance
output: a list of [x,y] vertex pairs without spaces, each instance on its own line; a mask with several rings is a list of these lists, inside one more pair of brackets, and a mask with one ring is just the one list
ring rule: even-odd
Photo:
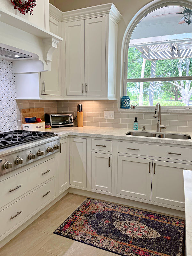
[[15,95],[13,63],[0,59],[0,132],[17,130]]

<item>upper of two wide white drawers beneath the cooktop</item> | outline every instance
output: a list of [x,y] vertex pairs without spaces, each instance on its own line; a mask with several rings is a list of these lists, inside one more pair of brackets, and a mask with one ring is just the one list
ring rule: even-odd
[[[55,158],[0,182],[0,208],[55,175]],[[50,171],[49,171],[50,170]],[[43,174],[44,173],[44,174]]]

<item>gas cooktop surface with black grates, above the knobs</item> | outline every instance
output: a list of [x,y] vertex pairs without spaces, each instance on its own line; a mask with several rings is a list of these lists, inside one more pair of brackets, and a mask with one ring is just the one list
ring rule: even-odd
[[15,130],[0,133],[0,149],[55,136],[53,132],[35,132]]

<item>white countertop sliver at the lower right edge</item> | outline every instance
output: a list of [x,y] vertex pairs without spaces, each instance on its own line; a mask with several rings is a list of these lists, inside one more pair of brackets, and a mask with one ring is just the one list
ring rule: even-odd
[[192,171],[183,170],[185,191],[185,234],[186,234],[186,256],[192,255]]

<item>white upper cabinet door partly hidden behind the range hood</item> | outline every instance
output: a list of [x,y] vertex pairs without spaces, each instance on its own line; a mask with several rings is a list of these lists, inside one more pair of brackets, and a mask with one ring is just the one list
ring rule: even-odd
[[[60,36],[61,22],[50,17],[50,32]],[[41,94],[61,95],[61,43],[52,54],[51,71],[41,72]]]

